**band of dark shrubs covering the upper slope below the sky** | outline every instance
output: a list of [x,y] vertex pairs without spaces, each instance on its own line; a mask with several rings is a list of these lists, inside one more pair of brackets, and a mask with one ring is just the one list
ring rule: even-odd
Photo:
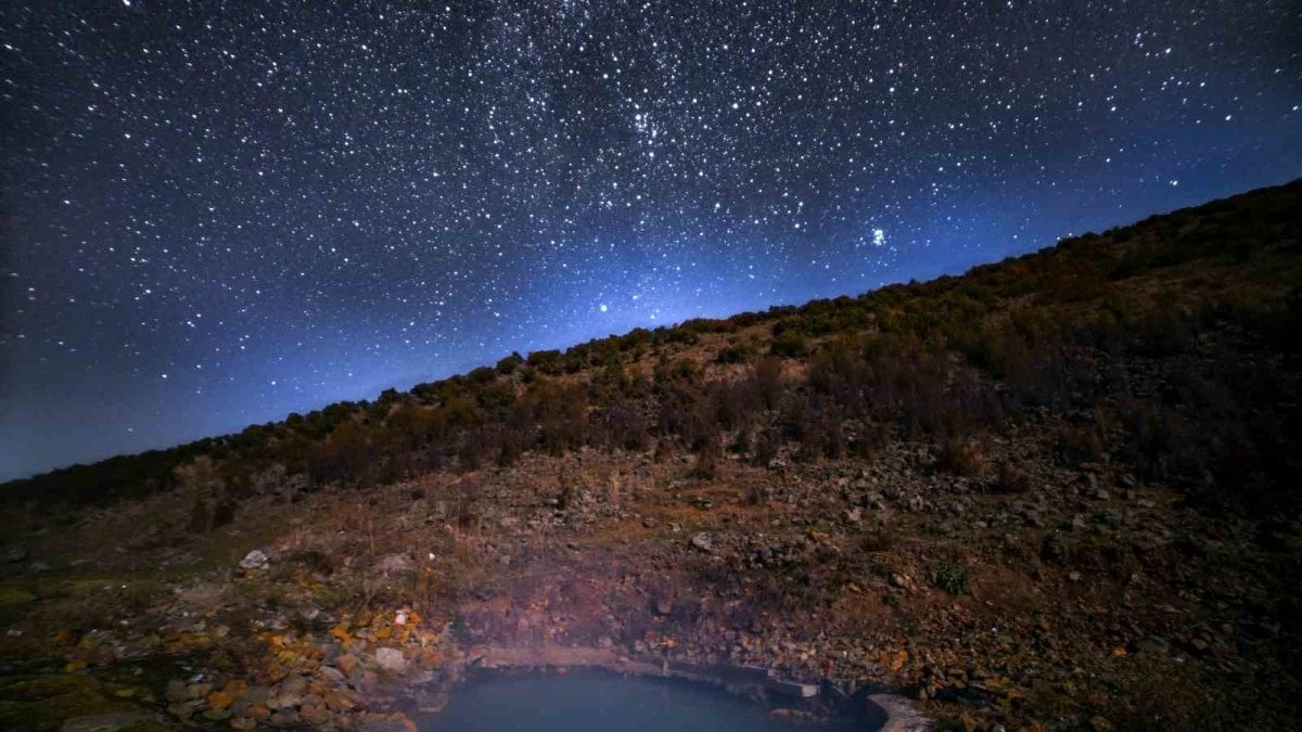
[[[1147,477],[1220,508],[1295,512],[1299,191],[1294,182],[1154,216],[961,277],[510,354],[408,393],[0,492],[51,508],[107,504],[189,477],[223,504],[284,475],[302,475],[305,490],[367,486],[585,445],[767,462],[794,442],[805,460],[867,457],[889,436],[963,440],[1035,410],[1107,405]],[[1211,331],[1233,343],[1187,358]],[[1268,356],[1240,358],[1245,344]],[[1120,383],[1108,365],[1122,357],[1174,370]],[[1088,456],[1086,431],[1062,439],[1065,453]],[[199,457],[201,469],[182,469]]]

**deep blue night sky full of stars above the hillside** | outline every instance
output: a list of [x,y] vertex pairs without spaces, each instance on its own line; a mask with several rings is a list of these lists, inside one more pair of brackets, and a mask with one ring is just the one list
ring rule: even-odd
[[1293,0],[0,5],[0,478],[1302,175]]

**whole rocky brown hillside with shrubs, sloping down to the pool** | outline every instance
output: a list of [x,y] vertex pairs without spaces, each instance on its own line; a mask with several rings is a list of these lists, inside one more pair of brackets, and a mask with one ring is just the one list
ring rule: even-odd
[[0,725],[361,725],[579,647],[1298,728],[1299,284],[1295,181],[10,482]]

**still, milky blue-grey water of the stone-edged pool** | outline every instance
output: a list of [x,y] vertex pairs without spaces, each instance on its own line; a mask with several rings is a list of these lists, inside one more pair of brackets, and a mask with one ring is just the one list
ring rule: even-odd
[[421,732],[849,732],[863,720],[801,723],[704,684],[577,671],[492,676],[458,686]]

